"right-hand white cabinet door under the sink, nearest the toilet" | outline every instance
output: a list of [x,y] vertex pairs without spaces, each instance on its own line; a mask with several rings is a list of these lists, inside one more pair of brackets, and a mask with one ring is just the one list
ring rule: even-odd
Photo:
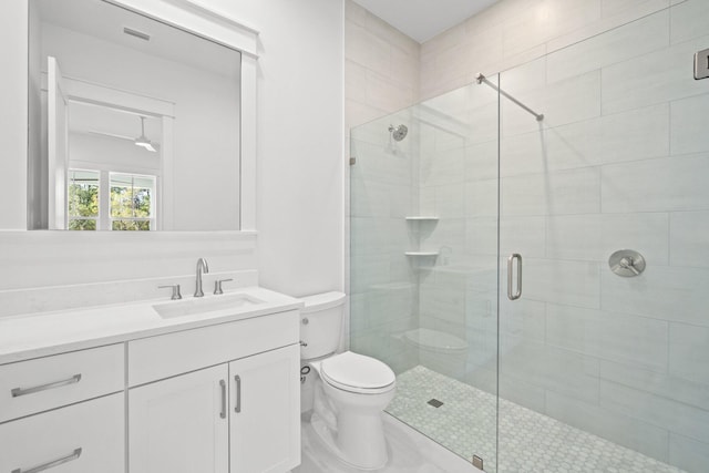
[[232,473],[300,463],[299,359],[295,345],[229,363]]

